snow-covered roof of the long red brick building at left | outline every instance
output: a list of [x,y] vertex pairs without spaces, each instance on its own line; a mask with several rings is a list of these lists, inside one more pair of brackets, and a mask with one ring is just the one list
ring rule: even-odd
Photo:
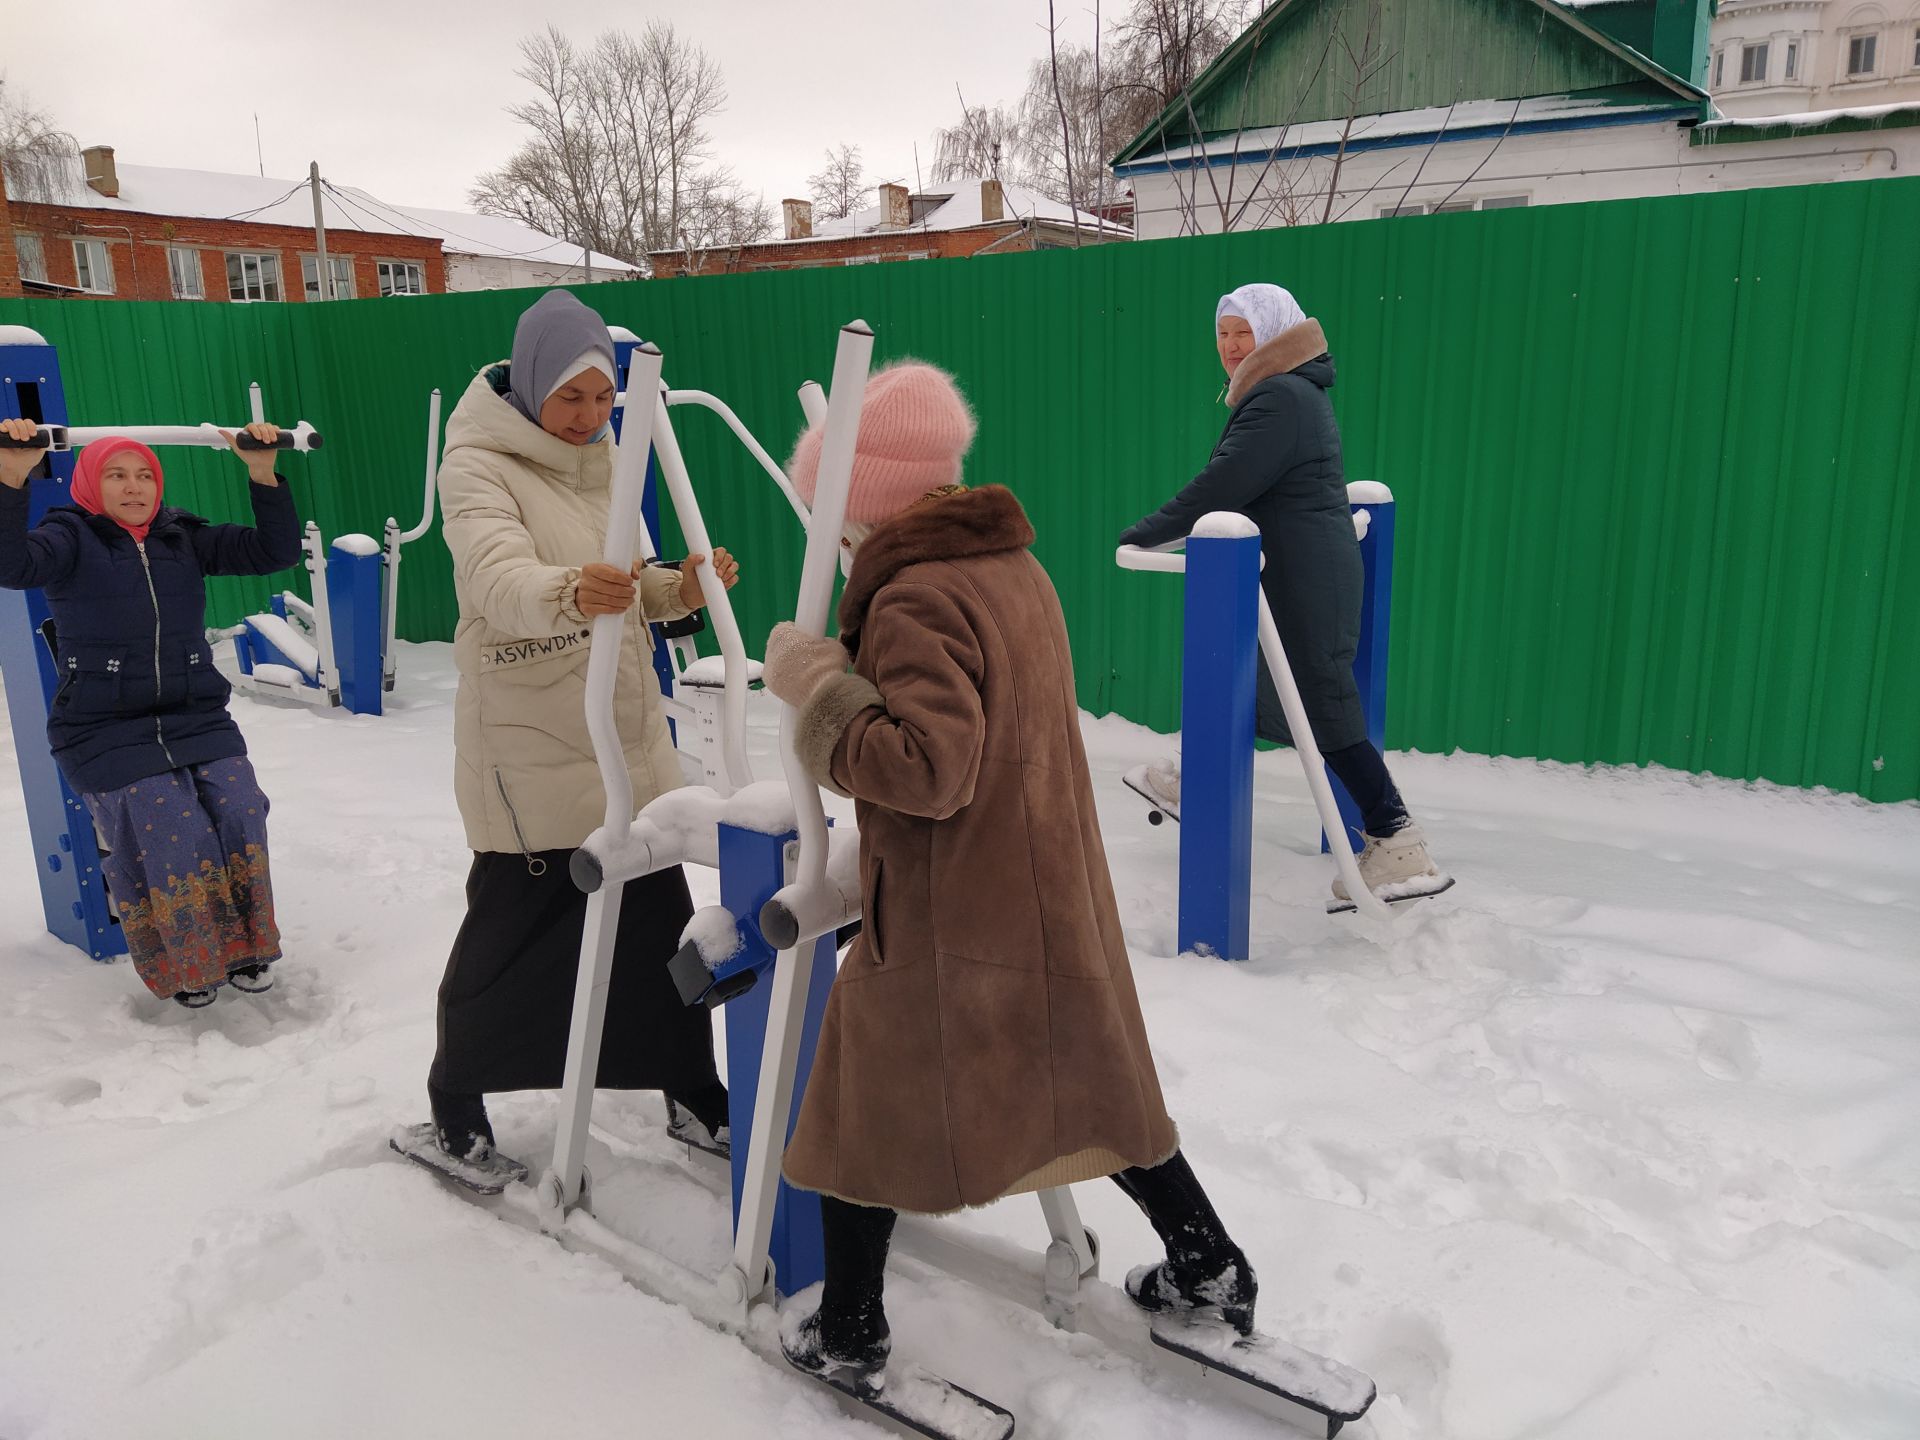
[[[313,194],[307,180],[278,180],[259,175],[223,175],[165,165],[115,165],[119,194],[104,196],[86,184],[79,163],[61,182],[54,204],[71,209],[131,211],[140,215],[179,215],[204,221],[252,221],[313,228]],[[390,205],[351,184],[326,184],[321,194],[328,230],[363,234],[411,234],[440,240],[449,255],[493,259],[532,259],[578,265],[580,246],[555,240],[520,221],[497,215],[468,215],[453,209]],[[593,269],[637,273],[612,255],[593,255]]]

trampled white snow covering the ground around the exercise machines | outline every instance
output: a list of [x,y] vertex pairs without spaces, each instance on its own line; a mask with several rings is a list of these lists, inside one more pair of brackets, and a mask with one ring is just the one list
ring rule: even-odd
[[[236,701],[290,958],[202,1014],[40,931],[0,780],[0,1440],[872,1434],[386,1150],[467,870],[449,649],[399,685],[384,720]],[[1263,1327],[1379,1379],[1346,1434],[1920,1434],[1920,806],[1398,756],[1461,883],[1375,924],[1321,912],[1269,755],[1227,966],[1173,956],[1177,835],[1119,783],[1160,743],[1087,735],[1169,1106]],[[538,1169],[551,1116],[501,1098],[503,1146]],[[724,1200],[659,1098],[597,1127],[601,1217],[716,1267]],[[1116,1188],[1079,1194],[1108,1277],[1152,1258]],[[1014,1304],[1043,1240],[1031,1200],[902,1227],[897,1354],[1035,1440],[1273,1434]]]

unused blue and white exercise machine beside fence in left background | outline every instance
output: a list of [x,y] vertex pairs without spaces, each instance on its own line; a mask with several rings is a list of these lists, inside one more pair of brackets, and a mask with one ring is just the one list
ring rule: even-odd
[[[259,419],[259,386],[253,388]],[[234,685],[252,695],[301,701],[353,714],[380,714],[382,695],[394,689],[399,618],[399,553],[434,522],[434,476],[440,468],[440,392],[426,407],[426,499],[420,522],[401,530],[388,516],[384,543],[372,536],[321,540],[321,526],[307,522],[300,549],[311,576],[313,599],[282,591],[265,614],[236,626],[209,630],[207,639],[230,639],[238,676]]]

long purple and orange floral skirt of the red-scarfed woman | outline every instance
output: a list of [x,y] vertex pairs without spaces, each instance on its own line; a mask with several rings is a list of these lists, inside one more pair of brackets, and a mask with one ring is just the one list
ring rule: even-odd
[[244,755],[84,795],[132,968],[154,995],[280,958],[267,797]]

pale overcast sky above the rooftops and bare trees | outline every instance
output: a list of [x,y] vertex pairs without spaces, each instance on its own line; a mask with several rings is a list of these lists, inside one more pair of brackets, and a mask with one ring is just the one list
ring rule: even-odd
[[[914,182],[931,134],[970,104],[1012,102],[1043,54],[1046,0],[61,0],[8,4],[8,88],[127,165],[255,171],[307,161],[396,204],[467,209],[472,177],[520,142],[505,108],[522,36],[576,40],[653,17],[712,56],[728,108],[714,152],[770,204],[804,196],[824,150],[862,150],[870,179]],[[1092,6],[1060,4],[1091,40]],[[1081,35],[1083,33],[1083,35]]]

